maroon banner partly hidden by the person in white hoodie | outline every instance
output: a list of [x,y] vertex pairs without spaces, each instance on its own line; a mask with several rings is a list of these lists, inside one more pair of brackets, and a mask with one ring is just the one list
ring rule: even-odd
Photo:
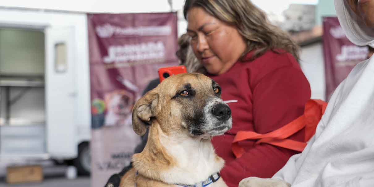
[[332,92],[347,77],[352,68],[366,59],[368,48],[350,42],[336,17],[323,18],[323,29],[326,101],[328,101]]

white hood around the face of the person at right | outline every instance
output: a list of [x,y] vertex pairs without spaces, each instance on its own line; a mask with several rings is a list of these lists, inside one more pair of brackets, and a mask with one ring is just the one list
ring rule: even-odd
[[374,47],[374,29],[367,27],[365,22],[358,18],[351,10],[347,0],[335,0],[335,9],[340,25],[352,43]]

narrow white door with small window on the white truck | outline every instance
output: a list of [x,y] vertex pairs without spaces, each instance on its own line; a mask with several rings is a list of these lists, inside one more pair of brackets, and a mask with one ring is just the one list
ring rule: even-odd
[[45,30],[47,152],[55,158],[77,156],[74,104],[74,27]]

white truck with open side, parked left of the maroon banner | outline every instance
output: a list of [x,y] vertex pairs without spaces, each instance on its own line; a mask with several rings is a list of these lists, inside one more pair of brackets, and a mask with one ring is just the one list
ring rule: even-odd
[[0,7],[0,162],[91,168],[87,15]]

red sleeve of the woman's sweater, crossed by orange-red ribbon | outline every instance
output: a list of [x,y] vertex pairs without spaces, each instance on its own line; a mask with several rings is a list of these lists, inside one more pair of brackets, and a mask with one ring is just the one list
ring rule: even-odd
[[[265,134],[281,128],[303,114],[310,99],[310,85],[302,71],[294,66],[281,67],[267,73],[252,86],[254,130]],[[302,141],[304,131],[292,135]],[[249,140],[252,141],[252,140]],[[285,165],[296,151],[259,144],[243,147],[246,153],[226,163],[221,175],[228,186],[238,186],[246,177],[270,178]]]

